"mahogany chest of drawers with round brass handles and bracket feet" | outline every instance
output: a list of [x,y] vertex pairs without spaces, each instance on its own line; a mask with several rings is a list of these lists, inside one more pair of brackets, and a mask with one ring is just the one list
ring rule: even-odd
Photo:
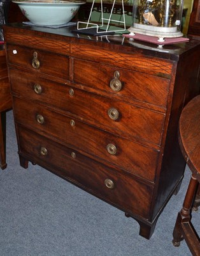
[[4,37],[21,166],[117,207],[149,239],[183,178],[177,125],[199,91],[199,42],[159,49],[23,24]]

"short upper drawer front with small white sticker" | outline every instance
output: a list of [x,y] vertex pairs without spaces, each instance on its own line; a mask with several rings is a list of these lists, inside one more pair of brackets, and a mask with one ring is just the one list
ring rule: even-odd
[[8,63],[69,80],[69,57],[50,52],[7,45]]

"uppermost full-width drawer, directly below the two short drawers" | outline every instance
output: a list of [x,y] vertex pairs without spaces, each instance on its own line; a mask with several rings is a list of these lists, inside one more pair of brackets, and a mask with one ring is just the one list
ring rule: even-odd
[[[51,104],[75,118],[120,136],[135,137],[155,145],[161,143],[165,117],[162,113],[10,70],[10,77],[13,76],[16,78],[11,79],[11,87],[19,95]],[[34,91],[34,84],[38,83],[41,93]]]

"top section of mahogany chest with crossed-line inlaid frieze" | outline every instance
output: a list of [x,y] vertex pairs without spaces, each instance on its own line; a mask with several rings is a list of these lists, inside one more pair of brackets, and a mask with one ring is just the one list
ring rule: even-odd
[[6,24],[4,33],[7,36],[5,40],[10,44],[25,43],[33,49],[117,65],[167,78],[171,77],[173,61],[178,61],[183,54],[189,53],[199,44],[193,40],[189,43],[165,45],[161,48],[145,42],[138,44],[137,41],[134,42],[121,35],[98,37],[76,35],[71,33],[71,29],[71,27],[50,29],[24,24]]

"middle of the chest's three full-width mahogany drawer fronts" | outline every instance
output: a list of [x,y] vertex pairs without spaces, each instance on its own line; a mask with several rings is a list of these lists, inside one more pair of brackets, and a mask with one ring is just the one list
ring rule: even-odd
[[17,122],[64,141],[69,147],[100,157],[134,175],[154,181],[159,156],[157,150],[96,129],[33,102],[13,99]]

